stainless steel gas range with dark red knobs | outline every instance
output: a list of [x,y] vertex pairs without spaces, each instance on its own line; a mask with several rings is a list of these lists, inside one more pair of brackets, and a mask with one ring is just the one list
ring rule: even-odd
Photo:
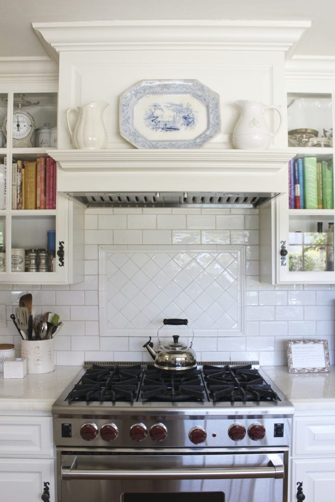
[[59,502],[283,502],[293,406],[253,364],[86,363],[53,406]]

